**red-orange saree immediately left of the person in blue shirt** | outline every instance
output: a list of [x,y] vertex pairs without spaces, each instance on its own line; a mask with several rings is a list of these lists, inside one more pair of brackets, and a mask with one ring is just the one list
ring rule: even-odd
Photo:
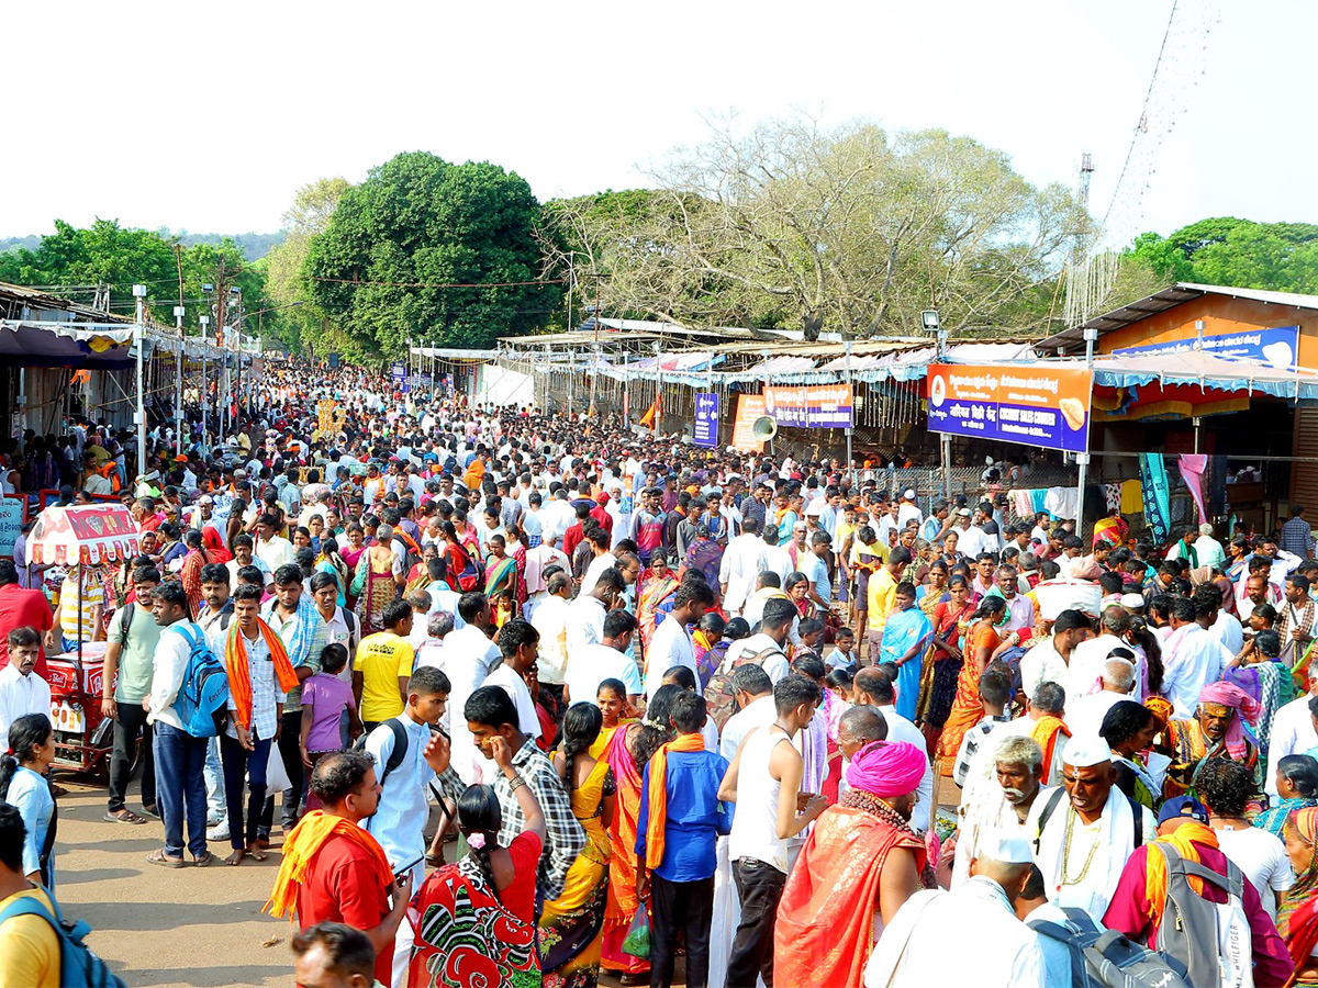
[[606,971],[641,975],[650,971],[650,962],[634,958],[622,950],[627,927],[637,916],[641,900],[637,897],[637,814],[641,811],[641,772],[627,748],[627,736],[639,730],[627,725],[614,731],[605,754],[618,784],[618,805],[609,827],[609,846],[613,860],[609,868],[609,897],[604,910],[602,967]]

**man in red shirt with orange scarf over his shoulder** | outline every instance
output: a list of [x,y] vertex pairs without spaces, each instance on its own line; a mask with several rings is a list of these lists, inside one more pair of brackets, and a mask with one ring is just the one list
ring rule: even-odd
[[295,910],[303,930],[319,922],[361,930],[376,948],[376,981],[390,984],[411,873],[394,879],[384,848],[358,826],[380,806],[376,761],[356,751],[328,755],[311,773],[311,792],[324,809],[303,817],[285,839],[265,912],[279,917]]

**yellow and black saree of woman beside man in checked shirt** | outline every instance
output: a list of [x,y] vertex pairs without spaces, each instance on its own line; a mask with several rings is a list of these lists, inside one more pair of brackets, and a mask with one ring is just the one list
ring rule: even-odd
[[609,834],[604,801],[617,792],[609,763],[598,760],[572,790],[572,814],[585,829],[585,850],[568,869],[563,894],[540,914],[540,958],[546,988],[593,988],[600,981],[604,914],[609,900]]

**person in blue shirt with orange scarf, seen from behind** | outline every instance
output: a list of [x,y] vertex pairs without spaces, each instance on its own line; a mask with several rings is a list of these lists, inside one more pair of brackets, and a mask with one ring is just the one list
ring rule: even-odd
[[718,800],[728,759],[705,751],[706,717],[704,697],[675,697],[670,721],[677,736],[654,754],[641,782],[637,894],[650,900],[651,985],[672,984],[679,927],[687,934],[687,985],[709,983],[716,847],[731,813]]

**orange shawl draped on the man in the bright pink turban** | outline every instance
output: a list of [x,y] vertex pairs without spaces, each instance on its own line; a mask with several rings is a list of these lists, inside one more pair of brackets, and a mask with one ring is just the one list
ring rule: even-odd
[[787,876],[774,929],[774,988],[859,985],[870,958],[879,876],[894,847],[916,855],[909,834],[853,806],[829,806],[815,821]]

